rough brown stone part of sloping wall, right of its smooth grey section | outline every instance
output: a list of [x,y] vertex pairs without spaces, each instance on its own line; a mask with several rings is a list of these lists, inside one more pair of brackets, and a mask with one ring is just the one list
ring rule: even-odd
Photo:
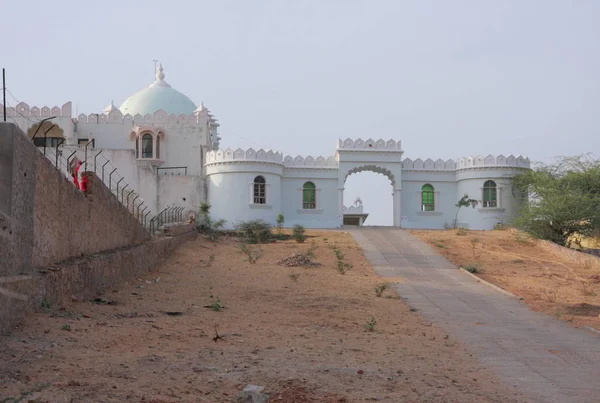
[[149,234],[93,172],[86,194],[37,164],[33,266],[144,242]]

